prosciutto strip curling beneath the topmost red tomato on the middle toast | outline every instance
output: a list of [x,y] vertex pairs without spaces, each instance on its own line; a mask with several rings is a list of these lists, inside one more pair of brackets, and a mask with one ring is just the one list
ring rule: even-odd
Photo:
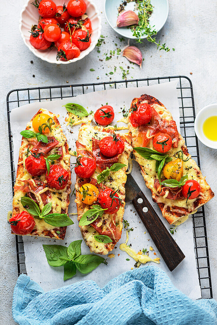
[[99,167],[100,171],[106,169],[106,167],[110,168],[115,162],[118,162],[118,158],[121,154],[118,154],[114,157],[105,157],[100,151],[99,140],[92,138],[92,150],[93,157],[95,158],[97,167]]

